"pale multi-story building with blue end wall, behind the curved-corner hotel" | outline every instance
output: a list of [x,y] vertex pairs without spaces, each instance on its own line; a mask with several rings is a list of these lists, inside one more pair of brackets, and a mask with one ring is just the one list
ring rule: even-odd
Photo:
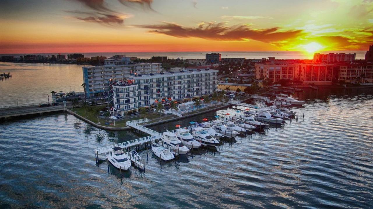
[[128,65],[101,65],[82,67],[83,83],[87,96],[95,96],[104,92],[109,80],[128,77],[130,74],[159,73],[160,63],[142,63]]

